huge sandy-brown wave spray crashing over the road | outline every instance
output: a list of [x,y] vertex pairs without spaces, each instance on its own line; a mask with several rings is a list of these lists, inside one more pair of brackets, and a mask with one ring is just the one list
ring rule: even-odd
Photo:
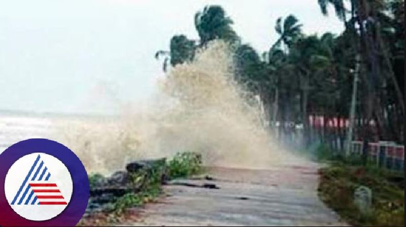
[[207,165],[267,168],[292,160],[263,124],[259,102],[234,80],[227,43],[212,41],[192,62],[158,81],[160,102],[115,120],[62,126],[61,141],[89,171],[112,171],[136,158],[202,154]]

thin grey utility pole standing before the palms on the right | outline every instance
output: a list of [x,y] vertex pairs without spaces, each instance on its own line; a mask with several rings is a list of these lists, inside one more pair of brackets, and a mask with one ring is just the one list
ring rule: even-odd
[[351,108],[350,108],[350,119],[349,119],[349,125],[348,125],[348,132],[347,132],[347,141],[346,141],[346,147],[345,147],[345,152],[346,156],[348,157],[350,154],[350,146],[351,146],[351,141],[352,141],[352,134],[354,130],[354,118],[355,118],[355,107],[357,103],[357,88],[358,88],[358,73],[359,73],[359,61],[360,57],[359,54],[356,55],[355,57],[355,72],[354,72],[354,81],[353,81],[353,88],[352,88],[352,99],[351,99]]

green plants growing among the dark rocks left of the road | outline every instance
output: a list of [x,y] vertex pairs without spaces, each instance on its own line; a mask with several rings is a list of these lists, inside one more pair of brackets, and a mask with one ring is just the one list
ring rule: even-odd
[[[83,218],[79,226],[108,225],[120,222],[125,218],[127,208],[139,207],[145,203],[155,202],[162,195],[162,184],[169,179],[189,177],[204,171],[201,156],[192,152],[178,152],[174,157],[163,162],[152,163],[148,168],[140,168],[128,174],[127,193],[117,196],[103,211],[92,213],[88,218]],[[105,177],[95,173],[89,175],[90,191],[95,190]]]

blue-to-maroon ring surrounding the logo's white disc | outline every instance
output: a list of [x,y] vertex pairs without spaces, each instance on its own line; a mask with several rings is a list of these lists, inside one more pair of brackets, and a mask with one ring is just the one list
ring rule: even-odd
[[56,217],[45,221],[32,221],[19,216],[10,206],[4,190],[0,191],[1,226],[75,226],[86,211],[89,201],[89,179],[82,162],[69,148],[48,139],[29,139],[18,142],[0,154],[0,185],[5,186],[5,178],[10,167],[19,158],[32,154],[45,153],[59,159],[69,170],[73,192],[71,201]]

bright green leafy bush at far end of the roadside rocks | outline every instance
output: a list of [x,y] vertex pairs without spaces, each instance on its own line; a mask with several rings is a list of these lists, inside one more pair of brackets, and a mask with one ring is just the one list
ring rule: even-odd
[[187,177],[202,170],[199,154],[179,152],[167,163],[170,178]]

